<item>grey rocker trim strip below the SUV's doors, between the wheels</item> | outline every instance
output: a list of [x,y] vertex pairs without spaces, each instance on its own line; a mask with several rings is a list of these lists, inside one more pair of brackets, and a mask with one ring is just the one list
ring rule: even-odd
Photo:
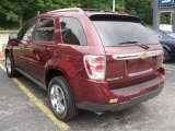
[[33,76],[31,76],[30,74],[25,73],[23,70],[15,68],[16,71],[19,71],[20,73],[22,73],[25,78],[27,78],[28,80],[31,80],[33,83],[37,84],[39,87],[47,90],[46,86],[39,82],[38,80],[34,79]]

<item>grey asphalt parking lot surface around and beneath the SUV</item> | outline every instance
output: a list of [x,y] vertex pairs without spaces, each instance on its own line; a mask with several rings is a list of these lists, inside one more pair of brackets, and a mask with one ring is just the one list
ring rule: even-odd
[[[0,61],[4,66],[4,61]],[[80,111],[66,122],[70,131],[175,131],[175,62],[164,64],[166,84],[163,92],[149,102],[118,112],[96,115]],[[25,79],[18,80],[45,106],[46,92]],[[44,114],[0,69],[0,131],[62,130]]]

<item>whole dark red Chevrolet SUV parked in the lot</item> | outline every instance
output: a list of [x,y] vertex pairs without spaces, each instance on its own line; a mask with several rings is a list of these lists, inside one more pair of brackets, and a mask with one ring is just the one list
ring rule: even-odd
[[62,9],[32,19],[10,35],[8,75],[22,73],[48,93],[54,114],[117,111],[161,93],[163,51],[136,16]]

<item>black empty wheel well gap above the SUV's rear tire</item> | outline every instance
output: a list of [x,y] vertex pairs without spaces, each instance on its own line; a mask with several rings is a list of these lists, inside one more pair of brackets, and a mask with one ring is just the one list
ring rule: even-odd
[[50,80],[54,76],[58,76],[58,75],[63,75],[63,73],[57,69],[50,69],[49,71],[47,71],[46,76],[45,76],[46,87],[48,87]]

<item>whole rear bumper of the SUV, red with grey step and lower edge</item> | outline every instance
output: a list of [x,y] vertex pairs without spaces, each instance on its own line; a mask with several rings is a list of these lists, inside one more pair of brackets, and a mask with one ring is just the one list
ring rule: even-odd
[[[165,83],[164,69],[156,76],[131,86],[110,90],[107,82],[74,79],[71,85],[78,108],[91,111],[117,111],[159,95]],[[116,83],[117,85],[117,83]]]

